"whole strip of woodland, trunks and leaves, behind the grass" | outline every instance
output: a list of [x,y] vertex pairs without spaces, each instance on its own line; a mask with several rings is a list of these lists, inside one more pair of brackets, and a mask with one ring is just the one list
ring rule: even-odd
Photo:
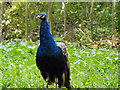
[[[55,38],[79,45],[90,43],[118,47],[120,38],[119,2],[11,2],[1,3],[1,40],[39,39],[40,20],[47,13]],[[90,44],[91,45],[91,44]]]

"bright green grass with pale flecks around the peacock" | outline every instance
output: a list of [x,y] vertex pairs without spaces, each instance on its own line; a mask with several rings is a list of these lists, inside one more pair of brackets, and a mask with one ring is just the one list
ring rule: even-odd
[[[44,88],[46,82],[36,66],[39,42],[3,41],[0,43],[0,88]],[[118,51],[79,49],[67,45],[74,88],[117,88]],[[51,88],[55,86],[49,86]]]

